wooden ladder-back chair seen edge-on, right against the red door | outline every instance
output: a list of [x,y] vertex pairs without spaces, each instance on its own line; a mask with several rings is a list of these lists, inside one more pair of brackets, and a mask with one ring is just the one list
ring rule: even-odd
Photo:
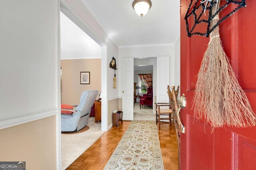
[[174,122],[177,140],[178,140],[178,158],[179,158],[179,170],[180,170],[180,133],[182,131],[182,125],[181,125],[180,121],[178,121],[180,119],[180,117],[178,115],[179,114],[178,109],[180,109],[180,107],[178,106],[178,101],[177,101],[178,90],[179,90],[179,86],[176,91],[175,91],[175,86],[172,86],[171,106],[173,108],[173,117],[174,117],[173,122]]

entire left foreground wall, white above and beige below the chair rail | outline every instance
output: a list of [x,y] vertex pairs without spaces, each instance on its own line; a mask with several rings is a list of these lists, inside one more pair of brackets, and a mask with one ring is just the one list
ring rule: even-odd
[[60,168],[59,4],[0,1],[0,160],[28,170]]

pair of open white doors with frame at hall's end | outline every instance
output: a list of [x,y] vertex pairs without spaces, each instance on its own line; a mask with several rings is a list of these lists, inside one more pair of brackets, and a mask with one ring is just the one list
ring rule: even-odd
[[[134,120],[134,63],[153,65],[153,74],[156,75],[153,76],[153,103],[169,101],[166,87],[170,84],[170,56],[122,58],[122,77],[125,77],[122,80],[122,109],[126,113],[124,120]],[[155,105],[153,113],[156,113]]]

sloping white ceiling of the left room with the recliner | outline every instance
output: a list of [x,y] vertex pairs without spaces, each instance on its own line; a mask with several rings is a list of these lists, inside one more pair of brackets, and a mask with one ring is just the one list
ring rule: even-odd
[[60,12],[60,58],[101,58],[101,47],[74,22]]

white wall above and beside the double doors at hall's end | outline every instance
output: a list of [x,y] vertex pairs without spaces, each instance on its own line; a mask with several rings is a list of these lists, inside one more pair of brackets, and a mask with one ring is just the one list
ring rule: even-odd
[[[122,58],[124,57],[134,57],[134,63],[137,62],[136,59],[138,57],[149,57],[147,58],[148,61],[146,62],[152,62],[155,63],[156,68],[156,57],[158,56],[170,56],[170,85],[174,84],[174,76],[177,74],[174,74],[174,45],[167,44],[165,46],[152,46],[152,47],[130,47],[130,48],[119,48],[119,63],[120,66],[122,66]],[[153,61],[154,60],[154,61]],[[138,63],[140,64],[140,63]],[[145,64],[145,61],[142,61],[141,64]],[[156,69],[155,69],[156,70]],[[119,72],[122,72],[122,68],[119,67]],[[156,75],[156,72],[155,72]],[[154,81],[156,82],[156,81]],[[119,76],[119,98],[122,98],[122,76]],[[156,86],[154,88],[154,95],[156,94]]]

